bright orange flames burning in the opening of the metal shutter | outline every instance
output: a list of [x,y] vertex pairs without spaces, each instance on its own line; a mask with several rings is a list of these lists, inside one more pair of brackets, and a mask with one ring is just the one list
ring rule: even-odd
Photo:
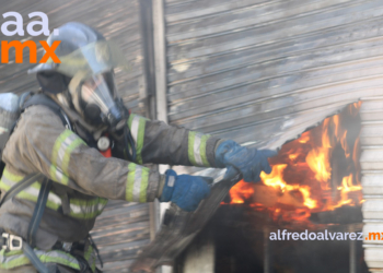
[[[244,181],[231,189],[230,203],[263,207],[274,219],[282,217],[286,221],[305,221],[312,212],[360,205],[363,200],[359,136],[349,135],[347,124],[350,122],[343,122],[345,117],[348,121],[350,118],[359,120],[360,106],[361,102],[351,104],[339,115],[326,118],[321,126],[285,144],[278,156],[269,159],[271,173],[262,173],[260,179],[275,192],[270,194],[275,199],[271,206],[257,200],[256,183]],[[344,154],[341,158],[339,151]],[[333,165],[334,162],[341,162],[341,167]],[[345,174],[341,171],[347,175],[339,177]]]

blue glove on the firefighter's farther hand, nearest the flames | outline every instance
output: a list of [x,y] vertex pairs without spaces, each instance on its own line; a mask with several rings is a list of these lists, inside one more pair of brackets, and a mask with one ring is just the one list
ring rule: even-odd
[[234,177],[237,171],[241,171],[246,182],[258,182],[260,171],[271,173],[267,158],[277,154],[271,150],[243,147],[228,140],[216,149],[216,165],[219,168],[228,168],[225,178]]

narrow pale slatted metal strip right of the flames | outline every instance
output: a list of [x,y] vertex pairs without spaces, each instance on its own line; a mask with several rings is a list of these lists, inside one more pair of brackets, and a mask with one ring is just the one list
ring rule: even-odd
[[[364,98],[360,114],[364,260],[373,272],[383,272],[383,96]],[[380,238],[370,238],[369,233]]]

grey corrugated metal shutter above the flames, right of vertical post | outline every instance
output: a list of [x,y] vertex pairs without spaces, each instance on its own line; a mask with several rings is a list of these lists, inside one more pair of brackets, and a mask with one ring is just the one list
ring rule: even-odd
[[278,146],[382,94],[383,3],[165,0],[169,120]]

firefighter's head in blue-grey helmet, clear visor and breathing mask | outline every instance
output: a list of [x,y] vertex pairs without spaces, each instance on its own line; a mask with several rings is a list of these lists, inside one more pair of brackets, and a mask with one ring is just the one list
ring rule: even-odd
[[76,110],[83,123],[115,139],[124,138],[125,152],[135,161],[135,142],[127,126],[129,112],[114,80],[114,71],[128,70],[125,55],[102,34],[77,22],[60,26],[59,34],[47,39],[49,46],[55,41],[60,41],[55,50],[59,62],[49,58],[28,73],[36,73],[43,91]]

